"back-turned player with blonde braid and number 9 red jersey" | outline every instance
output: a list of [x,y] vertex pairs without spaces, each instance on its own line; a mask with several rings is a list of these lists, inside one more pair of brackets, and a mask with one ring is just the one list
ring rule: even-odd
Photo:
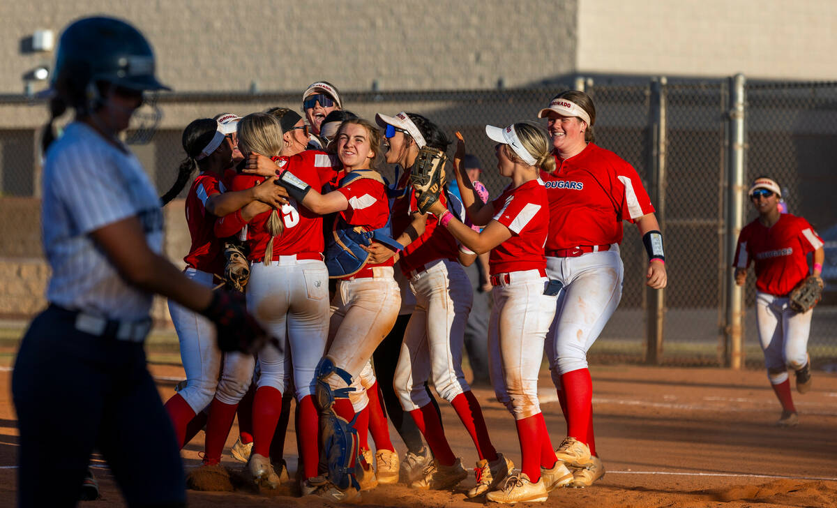
[[[245,156],[282,151],[282,128],[272,115],[254,113],[239,121],[239,147]],[[314,188],[334,172],[331,157],[305,151],[281,158],[280,165]],[[263,177],[237,175],[233,190],[252,187]],[[272,179],[270,179],[272,180]],[[326,347],[328,333],[328,272],[323,263],[322,219],[291,200],[279,210],[253,204],[218,221],[219,236],[240,231],[252,262],[248,307],[256,319],[280,339],[285,350],[259,351],[260,375],[253,407],[253,452],[249,471],[264,486],[275,488],[279,475],[271,467],[270,444],[282,408],[282,393],[290,376],[300,408],[300,455],[307,480],[317,475],[319,462],[314,371]],[[276,450],[275,453],[280,453]]]

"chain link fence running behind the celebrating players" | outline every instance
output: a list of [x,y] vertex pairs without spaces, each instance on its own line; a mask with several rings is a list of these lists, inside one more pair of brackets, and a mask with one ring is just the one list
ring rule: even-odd
[[[427,116],[451,139],[454,131],[461,131],[468,151],[482,162],[480,180],[496,196],[507,180],[496,172],[494,143],[485,136],[484,126],[526,120],[545,126],[545,121],[536,119],[537,111],[557,91],[570,87],[567,83],[526,90],[368,92],[346,94],[343,101],[348,110],[365,118],[406,110]],[[658,360],[666,364],[724,363],[730,262],[730,254],[725,253],[729,87],[727,80],[586,85],[597,109],[597,144],[631,163],[650,192],[660,192],[655,206],[665,232],[669,287]],[[159,97],[157,104],[164,123],[151,143],[133,148],[162,193],[175,180],[184,156],[182,128],[189,121],[228,111],[244,115],[275,105],[299,110],[300,95],[169,94]],[[0,114],[4,106],[0,104]],[[837,188],[837,83],[751,83],[745,115],[747,182],[762,174],[778,179],[789,211],[807,218],[826,240],[824,278],[837,290],[837,206],[830,201]],[[22,273],[28,273],[28,264],[42,262],[38,141],[35,129],[0,130],[0,259],[26,260],[18,269]],[[385,176],[393,178],[392,168]],[[747,206],[745,222],[755,218]],[[167,235],[182,237],[187,234],[184,227],[185,223],[170,221]],[[624,232],[622,301],[590,351],[593,362],[646,360],[653,319],[647,310],[650,290],[644,285],[647,260],[637,229],[625,223]],[[182,254],[169,251],[172,259]],[[747,283],[744,355],[747,366],[760,367],[753,279],[749,277]],[[43,293],[36,286],[24,285],[22,291]],[[814,366],[837,366],[835,295],[827,291],[814,311],[809,340]],[[0,308],[3,314],[15,312]],[[25,317],[21,314],[17,312]]]

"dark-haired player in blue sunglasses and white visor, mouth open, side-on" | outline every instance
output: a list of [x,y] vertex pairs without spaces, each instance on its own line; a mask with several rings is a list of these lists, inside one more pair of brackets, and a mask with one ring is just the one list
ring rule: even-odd
[[[376,120],[387,129],[388,162],[404,167],[405,178],[420,148],[431,146],[444,151],[449,145],[444,132],[422,115],[401,112],[394,116],[377,115]],[[444,193],[439,199],[446,207]],[[447,489],[465,477],[461,459],[451,451],[425,388],[432,378],[436,392],[453,405],[479,455],[477,485],[468,492],[469,497],[474,497],[488,490],[492,477],[499,481],[513,466],[491,444],[480,403],[462,372],[465,322],[474,296],[468,276],[457,260],[460,248],[456,239],[437,224],[434,216],[418,213],[411,188],[393,204],[394,231],[400,234],[399,243],[405,245],[398,263],[416,297],[393,385],[404,411],[419,426],[436,458],[435,467],[411,485]],[[473,262],[475,255],[470,255]]]

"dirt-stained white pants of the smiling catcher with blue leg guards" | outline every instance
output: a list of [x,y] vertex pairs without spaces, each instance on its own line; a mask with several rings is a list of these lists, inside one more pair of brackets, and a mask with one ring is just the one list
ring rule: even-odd
[[[355,391],[349,394],[349,399],[355,408],[365,408],[368,403],[361,373],[377,345],[393,329],[401,307],[401,294],[393,279],[393,267],[379,266],[372,270],[374,277],[337,282],[337,290],[331,300],[326,355],[331,357],[336,367],[352,376]],[[336,375],[326,381],[332,388],[346,387],[346,382]]]

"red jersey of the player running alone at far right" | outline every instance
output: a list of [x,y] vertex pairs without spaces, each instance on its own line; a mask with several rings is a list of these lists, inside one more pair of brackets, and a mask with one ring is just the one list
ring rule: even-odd
[[747,269],[755,261],[756,289],[784,296],[808,276],[806,254],[822,246],[823,239],[804,218],[783,213],[771,228],[756,219],[738,235],[734,266]]

